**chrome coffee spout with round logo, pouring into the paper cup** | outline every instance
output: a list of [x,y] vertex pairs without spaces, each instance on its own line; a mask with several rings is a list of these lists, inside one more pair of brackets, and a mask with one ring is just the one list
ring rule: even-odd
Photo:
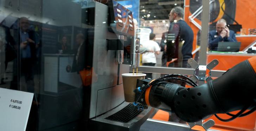
[[138,68],[140,67],[140,40],[136,39],[132,45],[132,67],[133,75],[136,68],[136,75],[138,74]]

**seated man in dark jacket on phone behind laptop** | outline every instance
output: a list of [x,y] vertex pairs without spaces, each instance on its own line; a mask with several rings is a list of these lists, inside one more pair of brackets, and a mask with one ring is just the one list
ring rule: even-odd
[[218,42],[237,42],[235,32],[226,25],[226,20],[219,19],[216,23],[216,30],[209,32],[208,47],[210,50],[216,51]]

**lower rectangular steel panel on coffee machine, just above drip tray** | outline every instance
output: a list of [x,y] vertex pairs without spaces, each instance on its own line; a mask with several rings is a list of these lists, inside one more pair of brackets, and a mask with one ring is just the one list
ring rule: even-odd
[[96,116],[101,115],[124,101],[123,84],[98,91]]

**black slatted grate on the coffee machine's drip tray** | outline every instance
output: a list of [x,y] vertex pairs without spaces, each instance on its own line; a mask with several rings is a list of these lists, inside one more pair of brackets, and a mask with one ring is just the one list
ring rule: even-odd
[[[142,104],[138,104],[138,106],[143,106]],[[133,118],[137,117],[143,109],[136,109],[134,108],[133,104],[128,104],[126,107],[124,107],[122,110],[114,113],[113,115],[105,118],[108,120],[114,120],[117,122],[127,123]]]

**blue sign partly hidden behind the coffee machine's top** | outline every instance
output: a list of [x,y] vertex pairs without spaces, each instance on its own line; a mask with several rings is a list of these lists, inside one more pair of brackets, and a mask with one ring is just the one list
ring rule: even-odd
[[122,6],[126,7],[133,12],[133,19],[136,19],[139,23],[139,12],[140,12],[140,0],[124,0],[117,1]]

